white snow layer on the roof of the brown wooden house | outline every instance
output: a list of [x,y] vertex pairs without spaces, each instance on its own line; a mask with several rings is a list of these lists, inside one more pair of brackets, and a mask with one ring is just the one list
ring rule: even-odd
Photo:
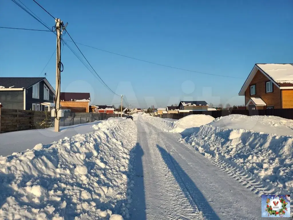
[[292,64],[257,64],[275,82],[284,83],[293,81]]

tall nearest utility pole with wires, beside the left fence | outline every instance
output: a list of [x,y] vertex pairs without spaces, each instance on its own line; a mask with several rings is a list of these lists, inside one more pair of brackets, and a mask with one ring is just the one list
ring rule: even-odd
[[57,53],[56,53],[56,98],[55,98],[55,131],[59,132],[59,119],[57,118],[60,109],[60,84],[61,84],[61,21],[60,18],[55,19],[57,32]]

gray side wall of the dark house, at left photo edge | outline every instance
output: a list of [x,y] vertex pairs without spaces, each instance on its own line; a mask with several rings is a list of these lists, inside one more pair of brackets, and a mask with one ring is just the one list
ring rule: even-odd
[[0,91],[0,102],[3,108],[23,110],[23,91]]

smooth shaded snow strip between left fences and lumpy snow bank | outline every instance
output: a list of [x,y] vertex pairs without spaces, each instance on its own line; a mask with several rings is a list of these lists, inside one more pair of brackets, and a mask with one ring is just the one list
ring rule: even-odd
[[45,145],[65,137],[72,137],[76,134],[86,134],[94,131],[92,126],[100,122],[101,121],[94,121],[91,123],[60,127],[60,132],[54,132],[54,128],[45,128],[1,133],[0,155],[7,156],[11,155],[13,152],[33,149],[38,143]]

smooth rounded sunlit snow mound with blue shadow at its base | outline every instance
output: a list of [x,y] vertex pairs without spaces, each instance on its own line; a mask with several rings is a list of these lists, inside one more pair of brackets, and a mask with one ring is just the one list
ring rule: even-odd
[[175,121],[173,123],[173,129],[170,132],[174,133],[193,133],[195,127],[208,124],[211,121],[214,121],[214,117],[210,115],[188,115]]

